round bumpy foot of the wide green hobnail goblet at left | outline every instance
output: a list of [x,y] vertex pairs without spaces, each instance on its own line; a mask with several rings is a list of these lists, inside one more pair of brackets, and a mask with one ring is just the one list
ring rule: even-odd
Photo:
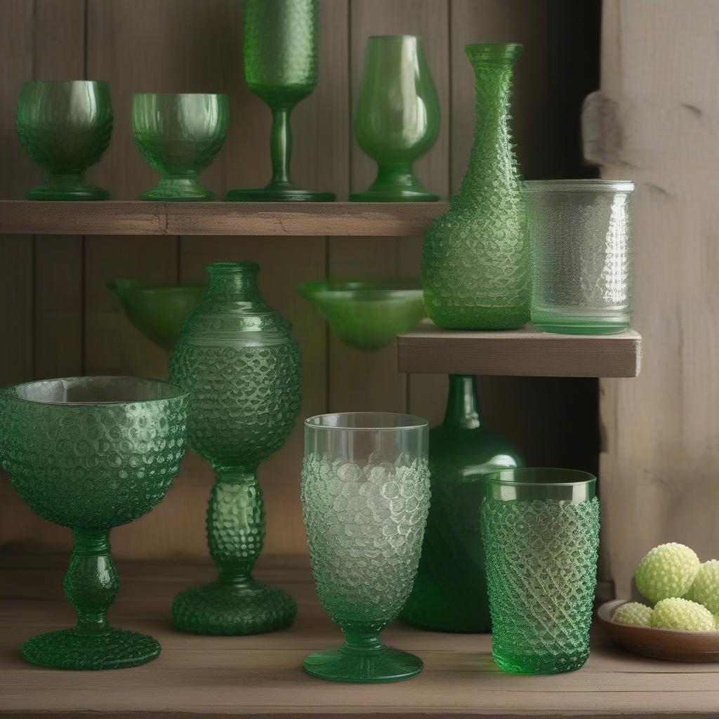
[[100,636],[60,629],[28,639],[20,654],[25,661],[50,669],[122,669],[157,659],[160,642],[147,634],[112,627]]

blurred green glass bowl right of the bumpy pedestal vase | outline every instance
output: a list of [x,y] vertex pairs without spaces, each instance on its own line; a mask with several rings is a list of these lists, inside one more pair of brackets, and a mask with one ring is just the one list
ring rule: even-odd
[[297,291],[342,342],[367,352],[390,344],[426,314],[422,286],[414,278],[311,280]]

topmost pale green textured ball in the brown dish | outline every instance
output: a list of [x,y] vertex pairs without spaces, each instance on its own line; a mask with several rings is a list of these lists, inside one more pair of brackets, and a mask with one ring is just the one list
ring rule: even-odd
[[683,597],[699,572],[699,557],[684,544],[670,542],[651,549],[634,574],[636,588],[651,603]]

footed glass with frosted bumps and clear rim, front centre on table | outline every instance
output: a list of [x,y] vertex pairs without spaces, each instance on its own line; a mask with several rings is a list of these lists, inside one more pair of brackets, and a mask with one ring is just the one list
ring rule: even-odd
[[326,414],[305,421],[302,505],[312,572],[344,646],[303,667],[334,682],[398,682],[422,661],[380,641],[412,589],[429,510],[427,421]]

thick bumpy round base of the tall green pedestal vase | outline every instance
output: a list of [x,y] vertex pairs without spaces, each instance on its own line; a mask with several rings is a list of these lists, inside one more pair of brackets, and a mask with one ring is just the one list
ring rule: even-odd
[[173,602],[175,626],[195,634],[262,634],[290,626],[296,614],[287,592],[254,580],[217,580],[180,592]]

